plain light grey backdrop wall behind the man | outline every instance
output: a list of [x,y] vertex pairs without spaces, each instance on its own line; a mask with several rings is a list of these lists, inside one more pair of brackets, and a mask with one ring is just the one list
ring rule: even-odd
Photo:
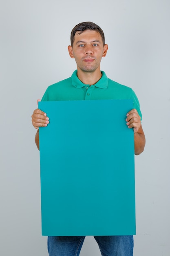
[[[141,104],[146,148],[135,157],[134,256],[169,256],[169,0],[0,0],[0,255],[48,255],[31,115],[47,86],[76,69],[67,46],[83,21],[104,30],[101,69],[135,90]],[[81,256],[98,255],[86,237]]]

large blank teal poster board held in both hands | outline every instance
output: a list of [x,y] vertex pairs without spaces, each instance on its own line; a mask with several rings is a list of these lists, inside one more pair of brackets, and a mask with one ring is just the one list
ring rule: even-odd
[[132,100],[48,101],[40,128],[43,236],[135,234]]

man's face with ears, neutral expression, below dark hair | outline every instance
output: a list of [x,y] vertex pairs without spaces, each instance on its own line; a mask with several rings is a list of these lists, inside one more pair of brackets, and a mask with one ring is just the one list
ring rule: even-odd
[[71,58],[75,58],[77,70],[95,72],[100,70],[102,57],[106,56],[108,46],[103,45],[102,37],[95,30],[85,30],[82,34],[75,33],[73,47],[68,46]]

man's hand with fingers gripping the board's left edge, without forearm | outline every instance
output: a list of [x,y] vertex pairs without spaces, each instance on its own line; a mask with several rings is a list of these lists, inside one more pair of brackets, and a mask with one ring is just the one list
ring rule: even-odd
[[34,110],[33,115],[31,117],[32,124],[35,127],[35,129],[39,129],[39,127],[46,127],[49,124],[49,117],[47,117],[46,113],[41,111],[39,108]]

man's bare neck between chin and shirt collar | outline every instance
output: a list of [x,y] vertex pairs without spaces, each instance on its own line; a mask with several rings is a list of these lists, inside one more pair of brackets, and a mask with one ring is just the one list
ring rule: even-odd
[[82,83],[94,85],[101,79],[102,73],[100,70],[95,70],[94,72],[84,72],[77,68],[77,76]]

